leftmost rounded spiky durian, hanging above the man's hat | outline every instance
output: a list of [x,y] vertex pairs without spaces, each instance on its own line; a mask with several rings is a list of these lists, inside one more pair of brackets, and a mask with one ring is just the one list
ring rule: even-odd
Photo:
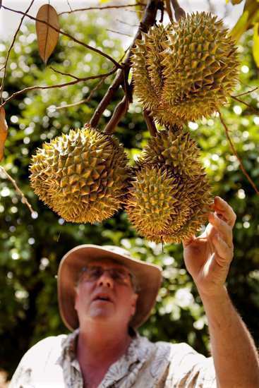
[[113,135],[91,128],[71,130],[44,143],[32,157],[35,193],[68,222],[102,222],[124,203],[127,157]]

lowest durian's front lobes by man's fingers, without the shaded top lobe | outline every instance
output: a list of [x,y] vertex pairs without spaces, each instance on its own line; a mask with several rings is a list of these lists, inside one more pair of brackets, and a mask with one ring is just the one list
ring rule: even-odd
[[180,243],[207,220],[212,202],[204,172],[174,176],[168,167],[138,167],[126,201],[128,219],[148,240]]

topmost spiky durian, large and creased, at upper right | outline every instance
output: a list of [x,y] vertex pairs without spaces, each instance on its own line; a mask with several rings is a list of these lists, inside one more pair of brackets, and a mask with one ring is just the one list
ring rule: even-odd
[[192,13],[164,28],[152,27],[133,50],[135,95],[159,123],[210,116],[237,82],[236,47],[222,20]]

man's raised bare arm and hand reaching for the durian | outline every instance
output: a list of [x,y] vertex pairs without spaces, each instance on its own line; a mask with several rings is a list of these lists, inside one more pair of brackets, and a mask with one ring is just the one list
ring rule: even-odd
[[216,197],[205,232],[183,243],[183,257],[207,315],[212,357],[220,388],[259,387],[259,358],[246,325],[224,283],[233,258],[236,214]]

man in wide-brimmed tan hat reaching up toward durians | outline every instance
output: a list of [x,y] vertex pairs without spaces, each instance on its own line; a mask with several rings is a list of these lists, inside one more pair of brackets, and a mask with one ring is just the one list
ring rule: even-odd
[[183,243],[207,315],[211,358],[135,332],[155,303],[159,267],[121,248],[80,245],[66,253],[58,274],[59,310],[73,333],[33,346],[10,388],[259,387],[258,354],[224,286],[236,216],[219,197],[214,210],[202,236]]

